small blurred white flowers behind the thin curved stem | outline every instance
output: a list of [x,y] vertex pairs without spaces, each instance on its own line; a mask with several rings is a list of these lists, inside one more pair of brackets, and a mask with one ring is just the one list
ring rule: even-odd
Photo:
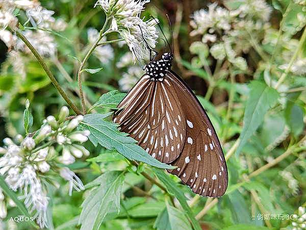
[[[87,30],[89,44],[94,44],[99,38],[99,32],[94,28]],[[106,42],[106,37],[103,37],[100,42]],[[99,59],[101,64],[107,64],[114,58],[114,50],[110,44],[99,45],[93,50],[93,55]]]

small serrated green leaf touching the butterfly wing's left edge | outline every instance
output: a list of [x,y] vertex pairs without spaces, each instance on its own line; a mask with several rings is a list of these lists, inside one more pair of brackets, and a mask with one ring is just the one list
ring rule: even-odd
[[118,109],[117,106],[120,103],[120,101],[125,97],[126,93],[115,94],[116,92],[117,90],[113,90],[111,92],[105,93],[102,96],[100,96],[98,101],[90,108],[90,110],[96,107]]

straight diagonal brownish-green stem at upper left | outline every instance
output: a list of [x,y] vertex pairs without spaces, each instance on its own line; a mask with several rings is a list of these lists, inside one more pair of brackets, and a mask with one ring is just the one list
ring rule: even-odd
[[42,68],[44,69],[44,71],[46,72],[46,74],[48,75],[50,81],[53,83],[53,85],[55,86],[55,88],[59,91],[59,93],[61,94],[61,96],[64,98],[64,100],[66,101],[66,103],[70,106],[70,108],[74,111],[74,113],[76,113],[77,115],[82,114],[82,112],[72,103],[72,101],[69,99],[69,97],[66,95],[66,93],[64,92],[64,90],[61,88],[61,86],[59,85],[59,83],[57,82],[57,80],[55,79],[54,75],[52,74],[52,72],[50,71],[50,69],[47,67],[47,65],[44,63],[44,61],[42,60],[42,58],[40,57],[40,55],[38,54],[38,52],[36,51],[36,49],[32,46],[32,44],[28,41],[27,38],[25,38],[23,36],[23,34],[20,31],[17,31],[17,35],[18,37],[29,47],[29,49],[31,50],[31,52],[34,54],[34,56],[36,57],[36,59],[38,60],[39,64],[42,66]]

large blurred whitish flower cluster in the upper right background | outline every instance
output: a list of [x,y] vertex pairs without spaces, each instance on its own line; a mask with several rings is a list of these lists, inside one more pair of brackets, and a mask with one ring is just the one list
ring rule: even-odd
[[[218,2],[208,5],[191,15],[190,24],[194,29],[190,35],[201,35],[201,42],[209,45],[211,55],[223,61],[226,59],[241,70],[247,69],[247,62],[241,56],[251,46],[249,37],[258,37],[260,31],[270,26],[272,7],[264,0],[248,0],[233,4],[224,3],[227,9],[219,7]],[[238,6],[231,8],[232,6]],[[249,32],[247,32],[247,30]],[[192,45],[191,45],[192,46]]]

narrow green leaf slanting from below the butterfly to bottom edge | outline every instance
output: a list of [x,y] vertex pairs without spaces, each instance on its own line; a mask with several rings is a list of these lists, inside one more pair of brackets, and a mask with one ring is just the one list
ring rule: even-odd
[[193,228],[195,230],[201,230],[202,228],[199,225],[199,222],[194,218],[194,214],[187,204],[186,200],[187,197],[184,195],[182,190],[177,186],[175,183],[166,173],[161,171],[160,169],[153,169],[159,180],[166,186],[168,192],[170,194],[174,194],[177,200],[181,203],[182,208],[186,211]]

